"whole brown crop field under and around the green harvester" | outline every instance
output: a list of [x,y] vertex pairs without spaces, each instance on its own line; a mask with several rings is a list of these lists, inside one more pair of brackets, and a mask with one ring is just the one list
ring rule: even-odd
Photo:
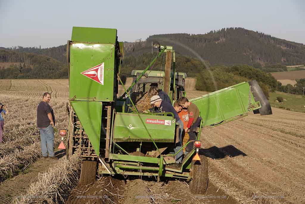
[[[304,113],[272,108],[270,116],[249,113],[204,128],[209,185],[206,195],[194,196],[183,180],[104,176],[79,186],[80,160],[60,151],[59,161],[41,159],[36,107],[46,91],[52,91],[55,128],[67,127],[67,80],[0,80],[0,102],[10,112],[0,144],[1,203],[305,203]],[[89,194],[97,197],[80,197]]]

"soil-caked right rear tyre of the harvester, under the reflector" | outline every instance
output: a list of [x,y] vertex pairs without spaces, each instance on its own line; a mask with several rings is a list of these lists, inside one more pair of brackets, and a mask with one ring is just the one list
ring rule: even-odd
[[193,195],[201,195],[206,192],[208,186],[208,159],[199,155],[200,161],[193,160],[191,164],[192,180],[190,181],[190,191]]

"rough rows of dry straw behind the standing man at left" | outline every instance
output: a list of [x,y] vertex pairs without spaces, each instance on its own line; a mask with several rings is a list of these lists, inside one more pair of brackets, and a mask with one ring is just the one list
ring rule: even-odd
[[[7,106],[9,114],[5,116],[3,141],[0,144],[0,177],[10,177],[27,168],[41,158],[40,135],[36,125],[36,109],[39,98],[21,98],[0,96],[0,102]],[[51,102],[56,116],[56,127],[67,126],[66,102]],[[55,128],[55,144],[60,140]]]

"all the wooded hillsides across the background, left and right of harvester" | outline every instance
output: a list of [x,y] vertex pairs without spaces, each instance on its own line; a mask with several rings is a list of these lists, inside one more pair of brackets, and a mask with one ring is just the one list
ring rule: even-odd
[[[305,63],[305,46],[301,43],[244,28],[223,28],[203,35],[161,34],[151,35],[146,41],[124,42],[121,73],[129,75],[131,70],[144,69],[149,65],[157,54],[157,50],[151,47],[155,41],[174,47],[176,70],[197,77],[196,88],[203,91],[215,91],[254,79],[260,83],[266,95],[268,91],[285,91],[287,87],[281,86],[267,72],[287,71],[286,65]],[[2,79],[68,76],[66,45],[44,49],[21,46],[0,48],[1,64],[6,65],[2,69],[0,67]],[[151,69],[164,70],[164,65],[165,57],[159,57]],[[216,87],[212,83],[211,73]],[[295,92],[299,93],[299,89]]]

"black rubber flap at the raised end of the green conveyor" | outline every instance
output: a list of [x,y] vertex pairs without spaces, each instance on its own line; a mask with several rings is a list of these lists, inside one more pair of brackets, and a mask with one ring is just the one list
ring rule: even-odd
[[253,113],[254,114],[260,113],[260,115],[271,115],[272,110],[271,110],[270,103],[269,103],[268,99],[266,98],[266,96],[264,95],[262,89],[258,85],[257,81],[256,80],[249,81],[249,85],[251,86],[251,91],[252,91],[254,100],[259,101],[260,105],[262,106],[260,109],[254,110]]

